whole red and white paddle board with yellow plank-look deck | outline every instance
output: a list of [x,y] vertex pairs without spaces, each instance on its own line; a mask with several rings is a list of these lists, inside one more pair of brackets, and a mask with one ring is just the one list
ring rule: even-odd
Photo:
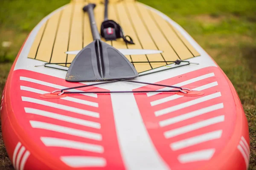
[[[20,49],[1,102],[15,169],[246,170],[247,119],[221,68],[177,23],[134,0],[108,3],[108,20],[134,44],[105,41],[104,9],[73,0]],[[114,29],[105,29],[108,39]]]

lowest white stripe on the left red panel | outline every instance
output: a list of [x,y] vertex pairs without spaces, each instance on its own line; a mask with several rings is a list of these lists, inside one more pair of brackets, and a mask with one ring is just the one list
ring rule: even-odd
[[107,162],[104,158],[93,156],[61,156],[61,161],[70,167],[105,167]]

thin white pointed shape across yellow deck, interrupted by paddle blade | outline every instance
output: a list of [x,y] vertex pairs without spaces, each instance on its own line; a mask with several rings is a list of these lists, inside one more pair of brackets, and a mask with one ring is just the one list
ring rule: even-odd
[[[147,49],[118,49],[123,55],[148,55],[148,54],[160,54],[163,51],[160,50],[147,50]],[[67,51],[66,54],[78,54],[80,50],[77,51]]]

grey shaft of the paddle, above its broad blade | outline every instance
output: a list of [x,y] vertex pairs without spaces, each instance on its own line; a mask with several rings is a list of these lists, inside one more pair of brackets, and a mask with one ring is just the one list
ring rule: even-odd
[[95,8],[95,6],[96,4],[89,3],[87,6],[84,6],[83,10],[87,12],[89,15],[91,31],[93,34],[93,40],[100,40],[100,35],[99,35],[98,28],[96,26],[96,21],[95,21],[94,12],[93,12],[93,9]]

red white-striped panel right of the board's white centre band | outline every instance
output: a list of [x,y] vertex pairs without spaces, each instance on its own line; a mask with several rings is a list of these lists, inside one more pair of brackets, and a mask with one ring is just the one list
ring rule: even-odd
[[[201,79],[193,82],[193,79]],[[205,78],[207,77],[207,78]],[[208,67],[156,82],[197,89],[204,95],[135,94],[157,151],[171,169],[195,169],[219,156],[234,133],[237,113],[232,91],[219,68]],[[158,90],[147,85],[134,91]],[[240,114],[240,113],[239,113]]]

